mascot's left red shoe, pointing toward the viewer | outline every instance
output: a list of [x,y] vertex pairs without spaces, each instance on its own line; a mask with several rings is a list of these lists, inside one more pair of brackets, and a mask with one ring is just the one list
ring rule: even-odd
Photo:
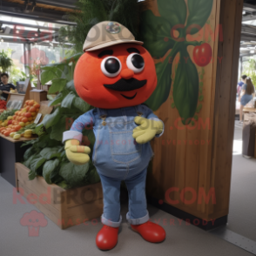
[[96,245],[100,250],[111,250],[118,243],[118,227],[103,226],[96,237]]

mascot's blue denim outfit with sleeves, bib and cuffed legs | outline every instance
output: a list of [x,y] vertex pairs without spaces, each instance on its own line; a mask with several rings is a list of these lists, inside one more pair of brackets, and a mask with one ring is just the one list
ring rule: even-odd
[[149,220],[145,179],[153,152],[149,142],[139,145],[132,138],[133,129],[138,126],[134,122],[137,116],[159,121],[145,105],[113,110],[97,108],[77,118],[71,131],[64,132],[64,141],[72,138],[82,140],[81,132],[84,127],[93,124],[96,142],[92,162],[102,183],[104,213],[101,220],[106,226],[118,227],[122,222],[119,202],[122,180],[125,181],[129,193],[129,212],[126,214],[128,222],[138,225]]

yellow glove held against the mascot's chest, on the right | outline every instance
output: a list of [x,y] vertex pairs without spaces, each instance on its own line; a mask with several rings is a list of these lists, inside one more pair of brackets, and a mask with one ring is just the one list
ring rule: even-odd
[[163,122],[152,119],[136,117],[134,122],[139,125],[133,130],[132,137],[136,139],[138,144],[145,144],[152,140],[156,134],[163,131]]

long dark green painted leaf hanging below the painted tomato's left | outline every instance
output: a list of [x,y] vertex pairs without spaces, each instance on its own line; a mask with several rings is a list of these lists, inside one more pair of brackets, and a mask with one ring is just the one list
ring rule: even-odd
[[[185,61],[187,59],[187,61]],[[199,75],[186,50],[180,53],[180,64],[173,84],[173,99],[184,125],[189,125],[197,110]]]

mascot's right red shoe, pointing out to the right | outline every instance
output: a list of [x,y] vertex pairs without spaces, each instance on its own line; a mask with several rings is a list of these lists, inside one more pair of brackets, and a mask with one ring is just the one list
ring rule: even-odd
[[165,229],[151,221],[140,225],[131,225],[131,229],[151,243],[159,243],[165,240]]

